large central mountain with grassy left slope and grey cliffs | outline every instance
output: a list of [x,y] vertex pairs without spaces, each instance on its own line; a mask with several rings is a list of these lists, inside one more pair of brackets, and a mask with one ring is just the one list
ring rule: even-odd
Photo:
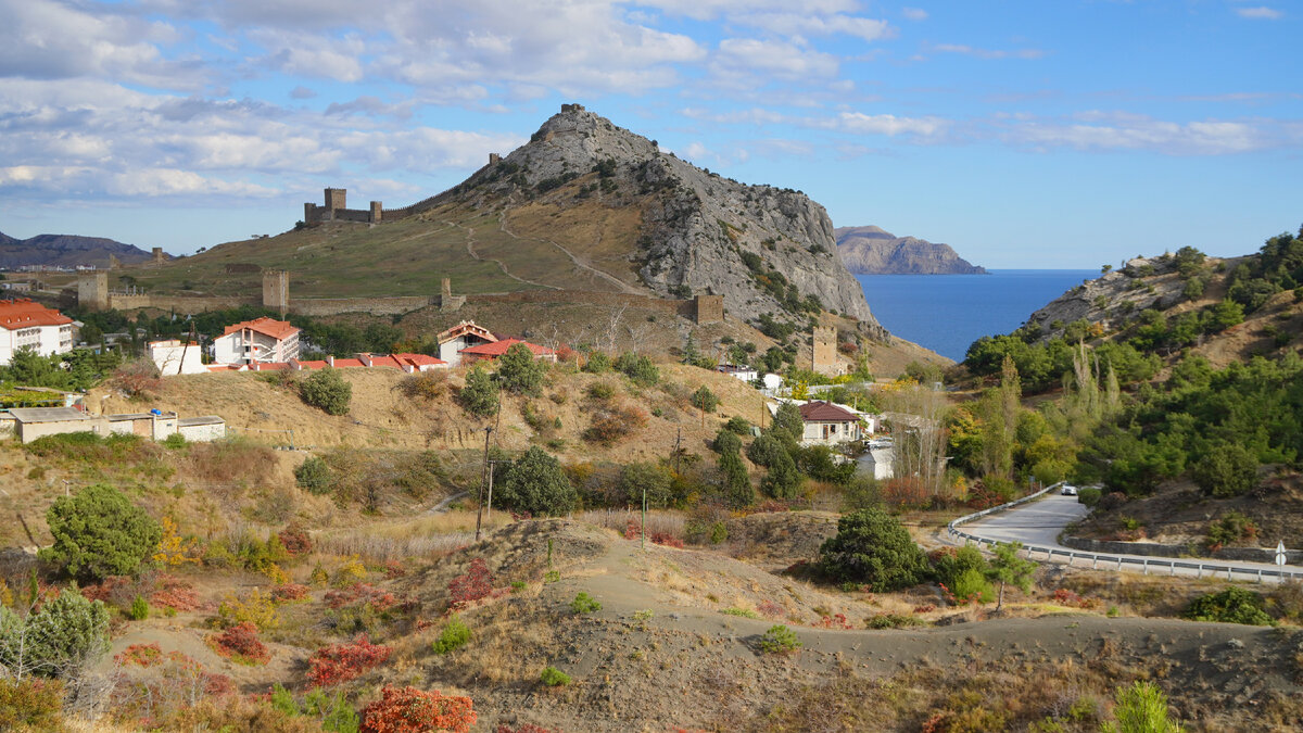
[[289,270],[300,297],[434,295],[444,277],[468,295],[713,293],[753,325],[769,314],[805,331],[812,316],[835,310],[866,334],[885,334],[842,263],[822,206],[697,168],[579,104],[456,187],[386,205],[379,222],[356,209],[305,217],[294,231],[132,275],[151,292],[224,293],[259,287],[257,275],[238,280],[231,269],[257,265]]

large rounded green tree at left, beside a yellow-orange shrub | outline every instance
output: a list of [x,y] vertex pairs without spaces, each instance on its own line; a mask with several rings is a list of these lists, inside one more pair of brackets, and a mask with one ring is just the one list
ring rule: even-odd
[[158,522],[107,484],[59,497],[46,522],[55,543],[40,558],[86,580],[136,573],[163,537]]

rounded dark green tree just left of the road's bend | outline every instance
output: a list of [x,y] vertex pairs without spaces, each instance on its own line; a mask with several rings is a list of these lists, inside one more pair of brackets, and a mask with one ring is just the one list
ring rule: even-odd
[[835,580],[868,583],[890,592],[916,586],[928,574],[928,558],[899,522],[881,509],[842,516],[837,536],[820,548],[818,569]]

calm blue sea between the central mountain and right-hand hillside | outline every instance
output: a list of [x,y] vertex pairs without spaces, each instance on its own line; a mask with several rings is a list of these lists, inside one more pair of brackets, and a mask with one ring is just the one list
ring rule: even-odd
[[1007,334],[1098,270],[992,270],[986,275],[856,275],[893,334],[960,361],[981,337]]

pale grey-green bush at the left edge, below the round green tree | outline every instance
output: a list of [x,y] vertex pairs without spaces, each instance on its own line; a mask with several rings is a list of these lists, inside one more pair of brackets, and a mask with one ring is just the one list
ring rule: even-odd
[[108,651],[108,609],[76,590],[20,617],[0,606],[0,670],[13,677],[76,673]]

